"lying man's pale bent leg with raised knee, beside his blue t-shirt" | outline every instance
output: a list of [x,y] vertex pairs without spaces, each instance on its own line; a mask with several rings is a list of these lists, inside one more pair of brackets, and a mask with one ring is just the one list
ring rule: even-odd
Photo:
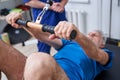
[[68,80],[68,77],[53,57],[34,53],[27,58],[24,80]]

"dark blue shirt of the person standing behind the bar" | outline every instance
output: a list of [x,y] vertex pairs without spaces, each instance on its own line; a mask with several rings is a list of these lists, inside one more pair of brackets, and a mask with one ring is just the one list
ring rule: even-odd
[[[45,2],[47,0],[40,0],[42,2]],[[61,0],[54,0],[55,2],[60,2]],[[36,20],[38,14],[42,11],[42,9],[38,8],[32,8],[33,12],[33,17],[34,21]],[[51,26],[56,26],[59,21],[64,21],[67,20],[65,16],[65,10],[61,13],[59,12],[54,12],[52,10],[47,10],[47,12],[43,15],[43,18],[41,20],[41,24],[47,24]]]

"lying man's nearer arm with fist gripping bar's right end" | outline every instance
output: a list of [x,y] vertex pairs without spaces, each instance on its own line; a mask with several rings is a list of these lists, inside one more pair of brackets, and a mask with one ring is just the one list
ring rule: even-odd
[[83,47],[88,57],[96,60],[102,65],[105,65],[108,62],[108,54],[98,48],[88,37],[83,35],[74,24],[63,21],[60,22],[54,29],[55,36],[59,36],[64,39],[70,39],[70,33],[72,30],[77,31],[75,41]]

